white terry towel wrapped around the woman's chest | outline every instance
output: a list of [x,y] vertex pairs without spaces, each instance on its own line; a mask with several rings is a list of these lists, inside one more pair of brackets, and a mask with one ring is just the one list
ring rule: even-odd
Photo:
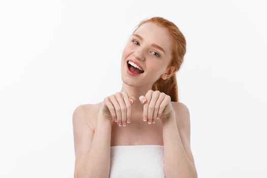
[[164,178],[163,145],[110,146],[109,178]]

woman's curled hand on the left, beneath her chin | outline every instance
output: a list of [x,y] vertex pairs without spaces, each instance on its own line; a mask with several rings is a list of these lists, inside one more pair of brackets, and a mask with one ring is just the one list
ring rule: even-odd
[[134,101],[135,98],[126,92],[117,92],[104,98],[98,114],[110,123],[114,120],[118,126],[126,126],[126,122],[131,122],[131,105]]

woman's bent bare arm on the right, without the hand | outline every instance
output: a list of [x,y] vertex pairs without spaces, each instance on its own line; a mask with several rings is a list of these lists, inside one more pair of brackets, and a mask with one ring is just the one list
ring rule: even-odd
[[[184,104],[173,105],[173,113],[163,124],[164,172],[168,177],[194,177],[197,172],[190,149],[190,115]],[[186,133],[186,134],[185,134]]]

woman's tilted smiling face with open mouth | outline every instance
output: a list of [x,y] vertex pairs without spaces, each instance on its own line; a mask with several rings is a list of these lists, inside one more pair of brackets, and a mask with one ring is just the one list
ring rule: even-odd
[[[122,80],[128,85],[152,86],[160,77],[166,79],[174,72],[173,67],[167,70],[171,60],[171,50],[172,43],[166,28],[152,22],[142,24],[130,37],[123,50]],[[134,75],[129,73],[129,60],[138,63],[143,73]]]

